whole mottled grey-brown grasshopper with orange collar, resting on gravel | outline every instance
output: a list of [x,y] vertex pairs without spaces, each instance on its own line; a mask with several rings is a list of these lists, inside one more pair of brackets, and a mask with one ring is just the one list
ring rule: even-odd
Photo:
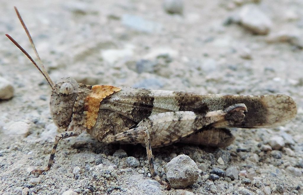
[[48,165],[32,174],[48,171],[54,163],[58,142],[87,131],[105,143],[142,144],[146,147],[150,172],[154,170],[151,148],[185,142],[226,147],[234,140],[228,127],[280,126],[295,117],[295,102],[284,94],[218,95],[148,90],[109,85],[84,85],[63,77],[52,82],[42,65],[32,37],[17,8],[40,67],[8,34],[6,36],[34,63],[52,88],[52,119],[64,132],[55,137]]

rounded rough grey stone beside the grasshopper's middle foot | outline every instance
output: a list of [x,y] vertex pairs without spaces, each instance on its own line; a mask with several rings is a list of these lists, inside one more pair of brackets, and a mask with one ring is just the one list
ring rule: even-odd
[[166,177],[173,188],[183,189],[194,184],[198,176],[198,166],[187,155],[178,155],[166,165]]

